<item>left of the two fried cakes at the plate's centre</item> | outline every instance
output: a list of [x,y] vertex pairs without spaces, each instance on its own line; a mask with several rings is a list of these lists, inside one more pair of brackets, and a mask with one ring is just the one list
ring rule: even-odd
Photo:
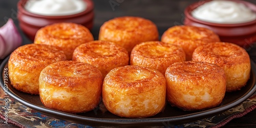
[[114,68],[129,65],[129,55],[123,47],[101,40],[78,46],[73,53],[73,60],[95,66],[103,77]]

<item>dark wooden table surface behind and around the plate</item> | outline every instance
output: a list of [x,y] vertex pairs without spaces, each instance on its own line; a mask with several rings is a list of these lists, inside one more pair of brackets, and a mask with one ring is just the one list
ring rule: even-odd
[[[247,1],[256,4],[256,1],[254,0]],[[16,7],[17,2],[18,0],[0,1],[0,26],[3,26],[8,18],[12,18],[14,20],[14,23],[18,26]],[[130,15],[141,16],[152,20],[157,25],[159,29],[159,37],[161,37],[161,35],[165,30],[167,30],[167,28],[183,24],[183,10],[189,4],[194,2],[197,1],[94,0],[95,18],[92,33],[94,35],[94,38],[98,39],[99,28],[105,21],[118,16]],[[111,5],[110,3],[115,3],[116,5]],[[18,29],[23,36],[23,45],[32,43],[32,41],[23,34],[20,28]],[[250,49],[248,52],[251,55],[254,55],[254,57],[256,56],[256,49]],[[2,60],[0,60],[0,63],[1,62]],[[1,121],[2,120],[0,120],[0,124],[3,124],[3,122],[1,123]],[[0,127],[3,126],[14,127],[14,125],[0,125]],[[231,120],[224,127],[256,127],[256,110],[248,113],[241,118]]]

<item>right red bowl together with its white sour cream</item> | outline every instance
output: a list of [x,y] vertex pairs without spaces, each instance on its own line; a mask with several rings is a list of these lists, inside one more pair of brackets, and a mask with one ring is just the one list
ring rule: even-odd
[[188,6],[184,25],[211,29],[221,41],[249,48],[256,42],[256,5],[239,0],[200,1]]

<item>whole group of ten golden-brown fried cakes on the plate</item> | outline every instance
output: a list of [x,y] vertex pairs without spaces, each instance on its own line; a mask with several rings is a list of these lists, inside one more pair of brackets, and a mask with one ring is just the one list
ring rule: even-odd
[[214,108],[249,79],[247,52],[211,30],[175,26],[158,37],[153,22],[132,16],[105,22],[99,40],[81,25],[49,25],[11,54],[11,84],[50,109],[88,112],[102,96],[111,113],[145,118],[166,99],[184,111]]

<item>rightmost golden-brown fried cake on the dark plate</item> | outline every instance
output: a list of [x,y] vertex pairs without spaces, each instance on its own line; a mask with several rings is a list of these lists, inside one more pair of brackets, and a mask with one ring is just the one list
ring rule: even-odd
[[250,77],[250,57],[241,47],[228,42],[215,42],[198,47],[192,60],[215,63],[225,70],[227,92],[240,90]]

